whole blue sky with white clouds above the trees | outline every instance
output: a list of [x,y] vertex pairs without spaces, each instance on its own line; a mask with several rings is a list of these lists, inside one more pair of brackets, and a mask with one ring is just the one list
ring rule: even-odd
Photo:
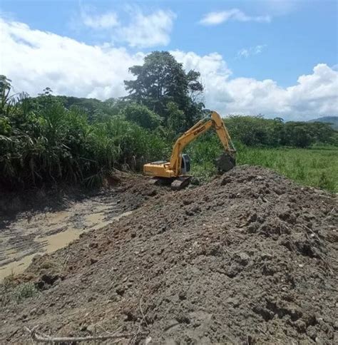
[[0,0],[0,74],[16,92],[126,96],[128,68],[170,51],[222,115],[338,115],[338,1]]

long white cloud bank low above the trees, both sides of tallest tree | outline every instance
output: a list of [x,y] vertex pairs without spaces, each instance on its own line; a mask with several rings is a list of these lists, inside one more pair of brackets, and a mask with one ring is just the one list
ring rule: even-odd
[[[131,78],[128,68],[142,63],[145,56],[109,44],[91,46],[14,21],[0,19],[0,32],[0,74],[13,81],[16,92],[31,96],[46,86],[68,96],[125,96],[123,80]],[[222,115],[262,113],[287,120],[338,115],[338,71],[325,63],[299,76],[295,86],[282,88],[271,79],[234,78],[218,53],[172,53],[187,70],[200,71],[205,105]]]

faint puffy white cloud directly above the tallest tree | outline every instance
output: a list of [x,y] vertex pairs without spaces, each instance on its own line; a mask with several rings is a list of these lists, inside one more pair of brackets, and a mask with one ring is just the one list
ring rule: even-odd
[[175,19],[172,11],[158,10],[147,15],[135,9],[130,12],[130,18],[130,24],[118,30],[118,36],[129,46],[145,48],[168,45]]

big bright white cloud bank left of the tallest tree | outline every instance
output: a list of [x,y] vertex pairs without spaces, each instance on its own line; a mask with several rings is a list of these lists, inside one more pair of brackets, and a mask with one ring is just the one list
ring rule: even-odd
[[78,97],[124,96],[128,68],[143,60],[142,53],[90,46],[14,21],[0,19],[0,32],[0,74],[13,81],[16,91],[32,96],[46,86],[56,94]]

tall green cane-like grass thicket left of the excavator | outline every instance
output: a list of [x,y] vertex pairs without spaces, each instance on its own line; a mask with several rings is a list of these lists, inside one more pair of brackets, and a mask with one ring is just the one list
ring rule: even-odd
[[[81,108],[17,103],[0,114],[0,187],[58,181],[98,185],[113,168],[163,158],[168,144],[157,133],[113,116],[90,122]],[[24,107],[25,105],[25,107]],[[135,165],[135,164],[134,164]]]

